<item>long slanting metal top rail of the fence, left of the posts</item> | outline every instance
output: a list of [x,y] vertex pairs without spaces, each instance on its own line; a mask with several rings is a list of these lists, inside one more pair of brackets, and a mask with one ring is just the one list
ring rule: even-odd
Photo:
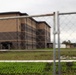
[[26,16],[13,16],[13,17],[0,17],[0,20],[6,19],[21,19],[21,18],[31,18],[31,17],[44,17],[44,16],[53,16],[55,13],[52,14],[42,14],[42,15],[26,15]]

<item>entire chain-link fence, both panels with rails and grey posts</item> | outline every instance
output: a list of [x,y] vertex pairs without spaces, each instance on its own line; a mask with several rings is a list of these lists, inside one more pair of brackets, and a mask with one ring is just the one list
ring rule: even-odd
[[75,26],[76,13],[0,13],[0,75],[75,75]]

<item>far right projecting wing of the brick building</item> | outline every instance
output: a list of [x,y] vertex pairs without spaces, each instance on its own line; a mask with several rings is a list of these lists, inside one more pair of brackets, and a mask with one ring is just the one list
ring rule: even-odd
[[50,27],[45,22],[37,24],[37,48],[47,48],[50,41]]

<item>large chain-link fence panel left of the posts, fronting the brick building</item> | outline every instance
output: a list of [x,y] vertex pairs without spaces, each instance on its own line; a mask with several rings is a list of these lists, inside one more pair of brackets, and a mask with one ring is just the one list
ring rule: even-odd
[[0,14],[0,75],[52,74],[53,24],[54,13]]

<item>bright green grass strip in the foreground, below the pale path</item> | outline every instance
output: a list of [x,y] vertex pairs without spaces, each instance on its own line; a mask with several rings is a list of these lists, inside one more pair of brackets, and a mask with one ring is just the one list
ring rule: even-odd
[[[76,63],[61,63],[62,75],[76,75]],[[0,75],[52,75],[53,63],[17,63],[0,62]],[[58,75],[58,63],[56,63]]]

